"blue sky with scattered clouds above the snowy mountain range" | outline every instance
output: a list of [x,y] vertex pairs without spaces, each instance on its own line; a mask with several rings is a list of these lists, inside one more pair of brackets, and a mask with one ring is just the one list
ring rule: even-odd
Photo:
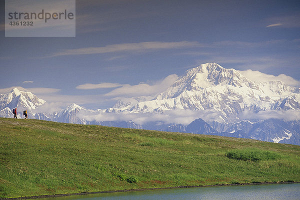
[[0,7],[0,92],[103,109],[206,62],[300,86],[299,0],[76,0],[75,37],[5,37]]

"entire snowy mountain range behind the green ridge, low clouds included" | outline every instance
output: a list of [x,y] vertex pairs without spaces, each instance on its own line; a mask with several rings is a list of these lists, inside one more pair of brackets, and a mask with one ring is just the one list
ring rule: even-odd
[[[44,103],[31,92],[14,88],[0,94],[0,116],[12,117],[11,110],[17,107],[19,117],[21,111],[27,109],[29,118],[57,122],[214,134],[300,145],[299,87],[281,81],[251,81],[235,69],[216,63],[188,69],[155,96],[122,99],[107,109],[88,110],[73,103],[59,112],[38,111]],[[105,116],[110,117],[105,120]]]

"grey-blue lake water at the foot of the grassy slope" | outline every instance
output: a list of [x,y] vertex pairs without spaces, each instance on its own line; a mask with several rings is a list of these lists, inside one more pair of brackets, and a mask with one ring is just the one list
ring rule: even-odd
[[300,199],[300,183],[262,184],[156,189],[145,191],[98,193],[64,197],[42,198],[42,200],[96,200],[96,199]]

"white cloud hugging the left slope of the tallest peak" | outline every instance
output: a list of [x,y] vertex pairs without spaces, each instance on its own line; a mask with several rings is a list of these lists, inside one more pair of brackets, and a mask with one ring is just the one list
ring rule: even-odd
[[155,82],[153,85],[146,83],[130,85],[123,84],[121,87],[113,89],[105,94],[105,96],[142,96],[142,95],[154,95],[164,91],[175,80],[178,79],[176,74],[171,74],[165,77],[163,80]]

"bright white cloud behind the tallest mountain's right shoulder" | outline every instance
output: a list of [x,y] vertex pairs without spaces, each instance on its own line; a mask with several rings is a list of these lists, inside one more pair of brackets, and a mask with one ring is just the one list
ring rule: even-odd
[[244,71],[240,71],[240,70],[237,70],[237,71],[239,73],[241,73],[243,76],[245,76],[246,78],[253,80],[253,81],[266,82],[266,81],[271,81],[271,80],[280,80],[287,85],[292,85],[292,86],[300,85],[299,80],[295,80],[294,78],[292,78],[288,75],[285,75],[285,74],[279,74],[279,75],[275,76],[275,75],[271,75],[271,74],[262,73],[257,70],[253,71],[251,69],[244,70]]

